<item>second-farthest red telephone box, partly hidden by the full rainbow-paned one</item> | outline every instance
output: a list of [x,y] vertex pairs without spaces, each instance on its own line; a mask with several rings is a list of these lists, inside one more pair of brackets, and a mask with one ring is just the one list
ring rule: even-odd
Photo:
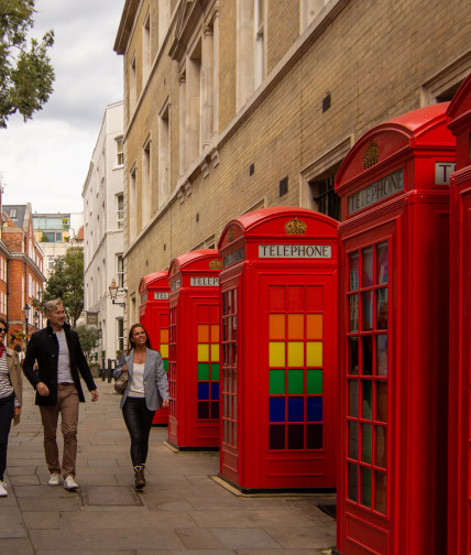
[[216,249],[175,258],[168,270],[168,442],[219,448],[219,272]]

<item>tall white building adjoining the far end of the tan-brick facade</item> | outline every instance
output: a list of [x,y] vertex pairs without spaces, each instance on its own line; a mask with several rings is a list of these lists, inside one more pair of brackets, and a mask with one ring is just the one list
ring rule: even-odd
[[[109,285],[124,286],[122,265],[123,104],[107,106],[81,196],[84,198],[84,273],[87,323],[101,330],[98,360],[114,359],[123,348],[124,308],[113,304]],[[120,296],[120,295],[118,295]],[[123,298],[118,298],[123,301]],[[95,322],[94,322],[95,320]]]

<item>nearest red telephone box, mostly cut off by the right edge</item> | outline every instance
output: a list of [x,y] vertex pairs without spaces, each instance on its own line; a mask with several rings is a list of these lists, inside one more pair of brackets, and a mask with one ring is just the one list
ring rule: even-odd
[[471,543],[471,75],[448,108],[457,138],[450,186],[450,380],[448,553],[470,554]]

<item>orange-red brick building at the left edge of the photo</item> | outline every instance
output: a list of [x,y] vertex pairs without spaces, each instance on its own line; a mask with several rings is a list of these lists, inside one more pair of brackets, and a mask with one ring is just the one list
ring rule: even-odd
[[[0,313],[9,322],[10,346],[20,342],[24,348],[26,333],[30,336],[43,326],[39,301],[45,280],[43,252],[34,237],[31,204],[3,205],[0,241]],[[17,340],[13,336],[17,336]]]

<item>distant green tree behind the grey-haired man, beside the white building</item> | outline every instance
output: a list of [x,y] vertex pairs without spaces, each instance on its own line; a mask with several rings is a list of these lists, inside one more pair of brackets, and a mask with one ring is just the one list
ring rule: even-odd
[[84,250],[78,247],[70,247],[65,257],[54,261],[44,290],[43,306],[46,301],[57,297],[62,298],[67,318],[75,327],[84,309]]

